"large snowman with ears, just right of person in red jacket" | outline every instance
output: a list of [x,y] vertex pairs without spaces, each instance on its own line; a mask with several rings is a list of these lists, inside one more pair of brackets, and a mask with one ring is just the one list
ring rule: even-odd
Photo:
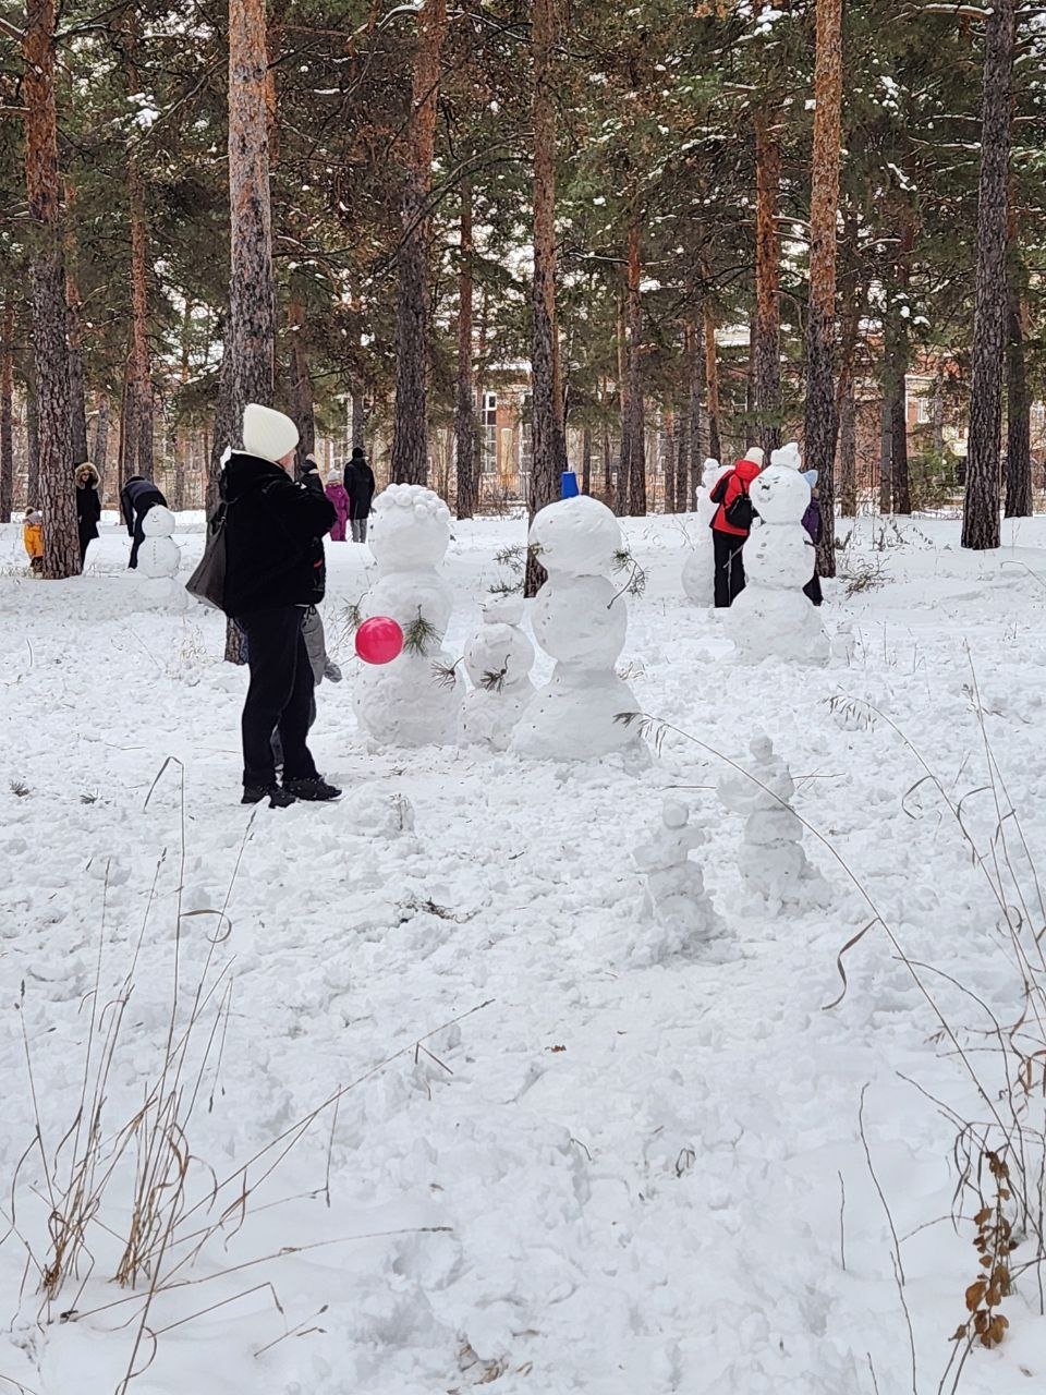
[[820,612],[803,594],[814,550],[802,525],[810,485],[801,466],[799,446],[789,442],[774,451],[749,488],[760,523],[745,544],[745,590],[729,608],[738,657],[749,663],[824,664],[831,653]]

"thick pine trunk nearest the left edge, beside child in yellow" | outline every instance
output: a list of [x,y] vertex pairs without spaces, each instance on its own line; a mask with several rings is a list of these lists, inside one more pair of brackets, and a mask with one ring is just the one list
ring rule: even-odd
[[33,359],[39,420],[39,495],[46,519],[43,576],[81,569],[68,435],[66,269],[59,208],[59,130],[54,103],[54,0],[28,0],[22,40],[25,181],[32,239]]

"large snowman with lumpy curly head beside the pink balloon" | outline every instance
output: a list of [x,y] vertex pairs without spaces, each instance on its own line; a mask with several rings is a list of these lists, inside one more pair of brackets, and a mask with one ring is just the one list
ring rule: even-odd
[[378,580],[360,603],[360,618],[391,615],[406,636],[391,664],[367,665],[357,677],[353,706],[360,725],[389,746],[453,741],[464,684],[444,650],[450,587],[437,572],[450,541],[450,512],[420,484],[391,484],[378,495],[370,545]]

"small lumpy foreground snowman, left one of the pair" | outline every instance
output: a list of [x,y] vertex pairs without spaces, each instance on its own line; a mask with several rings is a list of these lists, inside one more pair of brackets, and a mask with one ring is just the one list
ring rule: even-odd
[[722,922],[704,890],[702,869],[690,861],[692,850],[707,843],[707,836],[692,827],[689,819],[685,804],[665,799],[653,836],[632,852],[632,861],[644,876],[643,914],[661,930],[655,940],[637,943],[633,958],[643,963],[693,953],[722,935]]

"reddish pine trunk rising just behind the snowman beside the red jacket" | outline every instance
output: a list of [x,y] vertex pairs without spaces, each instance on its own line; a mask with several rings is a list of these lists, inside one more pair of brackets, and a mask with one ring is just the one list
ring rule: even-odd
[[835,575],[835,222],[842,145],[842,0],[816,0],[813,174],[810,187],[810,303],[806,319],[806,465],[817,470],[823,529],[817,571]]

